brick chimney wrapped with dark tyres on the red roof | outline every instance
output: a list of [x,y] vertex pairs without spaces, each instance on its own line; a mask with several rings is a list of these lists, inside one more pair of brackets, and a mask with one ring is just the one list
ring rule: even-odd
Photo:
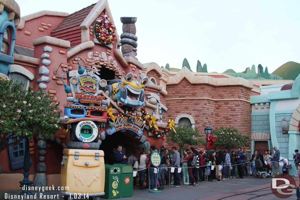
[[137,29],[135,27],[135,22],[137,22],[136,17],[121,17],[122,31],[121,34],[121,50],[123,56],[132,56],[135,58],[137,55],[137,36],[135,35]]

